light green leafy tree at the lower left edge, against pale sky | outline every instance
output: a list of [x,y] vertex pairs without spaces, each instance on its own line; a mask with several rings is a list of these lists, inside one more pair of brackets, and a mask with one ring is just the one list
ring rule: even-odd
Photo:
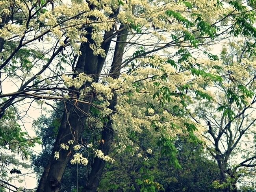
[[[30,164],[23,160],[28,160],[31,155],[30,147],[38,142],[22,131],[17,123],[17,109],[10,107],[0,119],[0,191],[18,190],[9,181],[22,181],[20,175],[24,174],[19,167],[28,169]],[[30,139],[26,139],[26,138]],[[17,158],[19,156],[19,158]]]

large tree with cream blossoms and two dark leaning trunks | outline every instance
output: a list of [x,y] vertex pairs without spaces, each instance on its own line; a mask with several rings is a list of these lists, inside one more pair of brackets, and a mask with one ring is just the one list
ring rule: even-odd
[[[214,81],[219,76],[201,70],[194,55],[214,59],[206,46],[225,36],[256,37],[254,11],[247,9],[254,2],[228,3],[3,1],[0,118],[22,102],[64,105],[37,191],[58,191],[71,157],[72,163],[87,164],[74,153],[75,146],[88,145],[81,140],[85,127],[101,134],[93,148],[83,146],[95,157],[85,191],[96,191],[105,162],[113,161],[111,145],[124,150],[132,143],[129,135],[151,131],[168,141],[181,130],[200,132],[183,112],[187,84],[197,85],[195,76]],[[17,78],[13,92],[2,89]],[[191,91],[208,97],[196,86]]]

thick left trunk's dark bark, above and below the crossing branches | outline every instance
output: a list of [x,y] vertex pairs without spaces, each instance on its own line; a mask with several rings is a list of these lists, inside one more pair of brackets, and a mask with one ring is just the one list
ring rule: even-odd
[[[91,36],[92,28],[88,29],[87,39],[89,42],[93,43]],[[76,65],[76,71],[78,73],[85,72],[86,74],[96,74],[97,72],[97,56],[93,55],[93,51],[89,48],[89,43],[82,43],[80,46],[81,55],[78,58],[78,63]],[[88,85],[87,85],[88,86]],[[72,94],[72,93],[70,93]],[[79,97],[79,95],[77,95]],[[89,94],[85,101],[92,102],[93,94]],[[70,156],[73,152],[73,147],[70,146],[69,150],[60,149],[61,143],[67,143],[69,140],[76,140],[80,142],[83,127],[85,126],[85,121],[87,114],[90,110],[91,104],[80,103],[80,102],[70,102],[67,101],[65,106],[65,113],[63,114],[61,120],[61,126],[59,127],[58,136],[52,150],[50,157],[50,162],[46,166],[37,192],[58,192],[61,186],[61,178],[69,162]],[[75,143],[74,143],[75,145]],[[54,159],[54,152],[59,151],[59,159]]]

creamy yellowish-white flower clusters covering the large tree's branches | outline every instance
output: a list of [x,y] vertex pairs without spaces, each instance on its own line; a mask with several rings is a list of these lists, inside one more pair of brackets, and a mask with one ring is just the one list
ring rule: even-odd
[[[54,2],[54,8],[45,9],[39,12],[37,11],[39,15],[34,14],[37,16],[32,18],[30,23],[28,23],[28,26],[30,27],[29,29],[25,22],[21,22],[20,24],[9,22],[4,24],[0,29],[0,37],[7,41],[16,36],[18,38],[22,35],[27,35],[24,39],[30,39],[30,36],[33,38],[42,35],[42,37],[46,37],[50,42],[57,40],[56,50],[58,49],[58,46],[67,45],[67,49],[70,48],[70,52],[72,50],[72,53],[77,56],[81,55],[82,52],[80,50],[80,43],[88,42],[94,55],[106,57],[105,50],[102,49],[104,32],[112,30],[113,26],[116,26],[115,30],[117,31],[117,26],[120,26],[120,24],[128,24],[126,30],[128,30],[129,33],[134,33],[134,31],[139,32],[144,39],[154,37],[153,39],[156,39],[155,42],[158,43],[157,46],[161,47],[164,45],[161,43],[170,40],[170,35],[181,37],[184,35],[184,31],[186,31],[187,34],[192,35],[192,30],[197,30],[195,26],[187,28],[185,24],[177,19],[177,17],[167,15],[167,10],[172,10],[175,13],[178,13],[179,17],[184,17],[191,21],[195,20],[196,14],[200,14],[200,17],[202,17],[203,20],[213,24],[216,20],[221,18],[223,14],[226,14],[227,11],[230,10],[230,7],[228,6],[222,8],[218,7],[218,2],[218,0],[187,0],[187,3],[193,5],[188,8],[182,1],[177,2],[168,0],[129,0],[122,5],[119,5],[119,1],[117,0],[83,0],[79,2],[56,1]],[[35,13],[34,9],[32,10],[32,13],[30,11],[28,12],[26,3],[20,0],[15,0],[15,3],[19,5],[19,8],[21,9],[19,13],[24,14],[24,21],[26,21],[30,15]],[[90,9],[89,4],[93,4],[97,8]],[[0,2],[0,14],[10,14],[9,6],[9,0],[2,0]],[[134,7],[141,11],[135,14]],[[114,9],[119,9],[118,15],[109,18],[109,14],[113,13]],[[97,18],[97,20],[92,18]],[[39,23],[37,21],[39,21]],[[2,19],[0,22],[2,22]],[[41,27],[38,29],[38,26]],[[86,30],[81,30],[82,28],[87,29],[89,26],[93,27],[90,32],[92,41],[89,41],[87,36],[85,37],[85,35],[87,35]],[[32,32],[26,34],[26,31]],[[144,34],[144,31],[146,35]],[[166,31],[166,33],[160,31]],[[117,33],[114,32],[114,35],[115,34]],[[132,35],[130,35],[129,38],[130,37],[132,37]],[[134,37],[136,37],[136,35],[134,35]],[[65,44],[65,38],[68,39],[68,44]],[[132,38],[129,38],[127,43],[130,43],[129,41],[131,41],[131,44],[133,44]],[[26,41],[24,40],[22,43],[25,43]],[[31,42],[33,44],[35,41],[32,39]],[[175,45],[174,42],[173,44]],[[188,44],[184,42],[182,45],[187,46]],[[42,49],[40,49],[40,46],[38,48],[39,53],[52,52],[52,50],[43,50],[45,46],[41,47]],[[52,45],[50,48],[52,48]],[[148,48],[148,50],[150,50],[150,48]],[[168,51],[170,50],[163,50],[163,52]],[[134,61],[135,68],[133,66],[131,70],[129,69],[129,73],[123,72],[117,79],[100,76],[97,82],[93,82],[93,78],[85,73],[76,74],[75,78],[72,78],[71,75],[67,74],[61,76],[63,80],[62,82],[67,88],[74,87],[75,89],[80,89],[83,86],[83,89],[80,90],[79,100],[83,100],[85,96],[93,92],[95,99],[93,102],[98,102],[98,106],[101,109],[99,112],[100,118],[104,119],[106,116],[111,118],[111,126],[120,141],[119,144],[117,144],[119,147],[117,151],[119,152],[124,151],[128,144],[132,145],[132,141],[126,137],[131,131],[136,133],[149,131],[152,134],[152,137],[158,137],[159,135],[175,137],[178,134],[182,134],[183,130],[186,129],[184,122],[191,122],[191,120],[186,117],[177,117],[175,114],[168,112],[169,109],[173,109],[174,107],[182,108],[182,99],[174,94],[166,96],[166,94],[161,92],[162,89],[165,89],[166,92],[175,93],[177,92],[178,87],[190,83],[193,90],[200,90],[200,92],[211,94],[198,86],[205,83],[205,78],[195,78],[195,76],[191,75],[191,73],[186,70],[178,72],[175,65],[170,65],[168,59],[160,55],[162,54],[158,53],[150,54],[148,57],[138,57]],[[47,59],[45,58],[45,60]],[[65,59],[62,58],[61,62],[67,62]],[[123,60],[125,62],[125,59]],[[255,62],[253,63],[246,60],[243,60],[243,62],[246,64],[245,67],[248,65],[256,66]],[[191,63],[199,63],[202,67],[219,66],[218,61],[211,61],[210,59],[196,61],[192,57],[186,59],[186,61],[180,63],[180,65],[187,68],[191,66]],[[32,64],[30,65],[33,66]],[[128,63],[127,66],[132,66],[132,63]],[[108,66],[106,68],[108,68]],[[125,68],[124,70],[126,69],[128,68]],[[237,81],[249,77],[246,70],[244,70],[238,63],[228,66],[227,70],[232,70],[232,73],[237,76]],[[216,69],[211,70],[211,73],[216,72]],[[24,77],[30,75],[31,74],[27,73]],[[52,82],[54,81],[53,79],[47,78],[45,79],[47,85],[57,85]],[[44,79],[44,77],[43,75],[38,75],[37,79]],[[93,83],[85,87],[86,82]],[[52,93],[48,92],[48,94]],[[59,92],[56,92],[56,95],[59,95]],[[63,95],[65,99],[69,99],[68,94]],[[113,99],[114,95],[117,97],[117,104],[115,109],[109,109],[109,101]],[[164,108],[160,107],[162,104],[165,106]],[[93,118],[88,118],[87,120],[88,122],[95,122],[95,127],[97,128],[103,127],[102,122],[98,119],[97,121]],[[175,127],[179,127],[180,129],[176,129]],[[197,134],[200,135],[200,131],[203,131],[203,127],[200,127],[200,125],[197,125],[197,127],[199,127]],[[156,131],[156,129],[158,131]],[[69,150],[72,144],[74,144],[74,141],[69,140],[66,144],[60,144],[60,148]],[[87,145],[87,148],[91,148],[97,157],[113,163],[114,159],[108,155],[104,155],[100,150],[93,149],[93,147],[92,143]],[[80,149],[81,146],[79,144],[74,146],[74,151]],[[152,150],[148,149],[147,152],[152,153]],[[56,151],[54,154],[55,158],[58,159],[59,152]],[[141,154],[139,153],[137,156],[141,157]],[[75,153],[71,163],[82,163],[86,165],[88,160],[83,157],[82,154]]]

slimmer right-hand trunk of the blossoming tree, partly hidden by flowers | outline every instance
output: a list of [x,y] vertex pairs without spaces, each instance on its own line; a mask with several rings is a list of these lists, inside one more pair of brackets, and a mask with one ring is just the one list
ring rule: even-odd
[[[120,26],[122,28],[124,26]],[[115,52],[114,52],[114,57],[113,57],[113,62],[111,65],[111,70],[110,70],[110,76],[112,76],[114,79],[119,78],[120,71],[121,71],[121,64],[122,64],[122,57],[124,54],[124,48],[125,48],[125,43],[127,40],[127,30],[122,31],[119,33],[117,36],[117,43],[115,46]],[[110,101],[110,106],[109,109],[115,110],[115,105],[117,104],[117,96],[113,96],[113,99]],[[111,114],[110,114],[111,116]],[[112,121],[110,116],[108,117],[108,122],[104,123],[103,131],[102,131],[102,140],[104,142],[100,143],[99,149],[102,150],[104,155],[108,155],[111,142],[113,141],[113,135],[114,131],[112,128]],[[99,159],[98,157],[95,157],[93,165],[92,165],[92,170],[91,173],[89,174],[86,186],[84,187],[86,192],[96,192],[98,185],[100,183],[100,177],[102,176],[102,172],[105,167],[105,161],[102,159]]]

